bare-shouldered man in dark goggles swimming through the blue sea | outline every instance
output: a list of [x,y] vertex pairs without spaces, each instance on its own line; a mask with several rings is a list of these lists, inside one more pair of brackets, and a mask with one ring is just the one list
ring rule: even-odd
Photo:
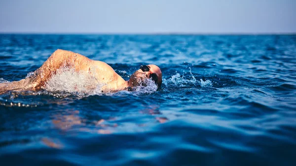
[[63,72],[63,70],[59,70],[61,68],[73,69],[79,74],[91,76],[96,81],[88,88],[95,89],[98,84],[103,84],[102,92],[133,90],[137,86],[146,86],[148,79],[152,79],[158,88],[162,83],[162,73],[156,65],[140,66],[140,69],[135,71],[128,81],[125,81],[104,62],[94,61],[83,55],[58,49],[30,77],[20,81],[0,83],[0,94],[7,91],[44,89],[52,76],[57,72]]

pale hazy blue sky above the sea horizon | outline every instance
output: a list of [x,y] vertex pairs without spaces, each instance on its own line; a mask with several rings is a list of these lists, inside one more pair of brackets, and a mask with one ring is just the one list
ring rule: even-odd
[[296,0],[0,0],[0,33],[296,33]]

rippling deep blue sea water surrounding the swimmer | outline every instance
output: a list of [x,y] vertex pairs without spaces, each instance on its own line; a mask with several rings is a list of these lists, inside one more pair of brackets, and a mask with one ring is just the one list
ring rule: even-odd
[[0,82],[58,48],[163,85],[0,95],[1,166],[296,165],[296,35],[0,34]]

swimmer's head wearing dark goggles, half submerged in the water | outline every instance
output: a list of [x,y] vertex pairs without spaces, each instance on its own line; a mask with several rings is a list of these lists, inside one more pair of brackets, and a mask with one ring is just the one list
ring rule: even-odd
[[162,83],[162,73],[156,65],[143,65],[135,71],[131,76],[128,84],[130,87],[147,86],[147,79],[152,79],[160,88]]

